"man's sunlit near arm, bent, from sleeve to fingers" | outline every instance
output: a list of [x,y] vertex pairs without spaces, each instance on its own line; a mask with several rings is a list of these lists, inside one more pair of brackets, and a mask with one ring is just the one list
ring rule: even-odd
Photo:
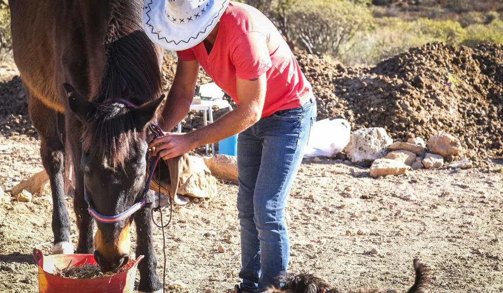
[[154,154],[166,160],[188,152],[198,146],[214,143],[247,129],[260,120],[266,97],[267,79],[262,74],[255,80],[237,79],[237,96],[240,105],[214,123],[196,131],[178,134],[169,133],[154,139],[149,147]]

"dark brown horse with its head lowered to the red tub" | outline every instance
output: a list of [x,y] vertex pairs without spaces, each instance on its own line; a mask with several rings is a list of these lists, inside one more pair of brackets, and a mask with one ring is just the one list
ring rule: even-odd
[[[50,177],[52,253],[94,253],[103,270],[117,270],[128,263],[134,222],[136,255],[144,255],[138,289],[161,290],[150,211],[139,209],[112,223],[94,221],[88,212],[111,217],[144,196],[148,125],[163,96],[162,50],[143,31],[143,1],[11,0],[9,5],[14,58]],[[75,251],[64,201],[70,181],[79,233]],[[152,197],[147,192],[147,200]]]

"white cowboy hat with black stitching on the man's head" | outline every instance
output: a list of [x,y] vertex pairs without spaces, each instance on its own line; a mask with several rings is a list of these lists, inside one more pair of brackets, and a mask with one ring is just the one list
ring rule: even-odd
[[228,4],[229,0],[145,0],[143,27],[155,44],[182,51],[211,33]]

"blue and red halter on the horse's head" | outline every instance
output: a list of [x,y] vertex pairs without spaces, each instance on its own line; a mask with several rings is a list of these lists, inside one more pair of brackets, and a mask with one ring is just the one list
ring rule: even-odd
[[[108,101],[105,101],[105,102],[109,102],[109,101],[112,101],[112,100],[108,100]],[[113,100],[113,101],[117,102],[117,103],[124,104],[124,105],[129,106],[129,107],[131,107],[133,109],[137,109],[138,108],[133,103],[131,103],[129,101],[126,101],[126,100],[123,100],[123,99]],[[157,124],[150,123],[149,128],[154,133],[154,135],[156,137],[160,137],[160,136],[164,135],[164,132],[162,131],[162,129]],[[126,211],[120,213],[119,215],[104,216],[104,215],[98,213],[92,207],[92,205],[91,205],[91,202],[90,202],[89,197],[88,197],[88,192],[86,190],[86,183],[84,183],[84,199],[86,200],[86,203],[88,203],[88,211],[89,211],[89,213],[91,215],[93,215],[93,217],[95,217],[95,219],[97,221],[99,221],[99,222],[113,224],[113,223],[120,222],[120,221],[122,221],[124,219],[127,219],[128,217],[130,217],[131,215],[133,215],[134,213],[136,213],[138,210],[140,210],[143,207],[145,207],[147,205],[147,203],[146,203],[146,201],[147,201],[147,192],[148,192],[148,190],[150,188],[150,181],[152,181],[152,176],[154,174],[155,168],[157,167],[157,163],[159,162],[159,158],[160,158],[160,155],[157,154],[155,156],[154,162],[152,164],[152,168],[150,168],[150,172],[148,174],[148,178],[147,178],[147,181],[145,183],[145,189],[143,189],[143,198],[141,199],[141,201],[138,202],[138,203],[136,203],[136,204],[134,204],[132,207],[130,207]]]

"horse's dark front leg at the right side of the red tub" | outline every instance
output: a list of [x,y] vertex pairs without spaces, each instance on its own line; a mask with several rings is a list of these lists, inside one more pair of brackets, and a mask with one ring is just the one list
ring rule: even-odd
[[138,264],[138,271],[140,272],[138,292],[162,292],[162,284],[155,270],[157,260],[152,242],[152,216],[150,209],[141,209],[136,212],[134,223],[137,235],[136,255],[145,256]]

